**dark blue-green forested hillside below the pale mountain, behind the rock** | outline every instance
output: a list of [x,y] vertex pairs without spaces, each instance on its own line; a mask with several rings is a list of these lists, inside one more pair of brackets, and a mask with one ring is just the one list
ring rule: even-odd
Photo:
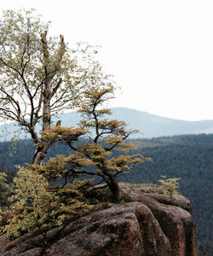
[[[124,174],[120,181],[158,183],[161,175],[181,177],[178,190],[192,202],[200,254],[212,255],[213,135],[135,139],[131,140],[131,143],[135,144],[139,153],[152,157],[153,162],[135,166],[134,170]],[[2,170],[14,171],[15,165],[22,166],[26,162],[31,162],[34,150],[33,143],[29,140],[20,141],[17,145],[0,143]],[[69,149],[64,145],[55,144],[48,157],[68,153]],[[12,175],[12,172],[10,174]]]

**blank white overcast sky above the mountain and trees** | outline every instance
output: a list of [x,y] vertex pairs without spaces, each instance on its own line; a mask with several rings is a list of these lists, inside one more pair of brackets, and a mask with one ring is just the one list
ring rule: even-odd
[[122,95],[112,107],[213,119],[212,0],[6,0],[35,8],[66,42],[101,45]]

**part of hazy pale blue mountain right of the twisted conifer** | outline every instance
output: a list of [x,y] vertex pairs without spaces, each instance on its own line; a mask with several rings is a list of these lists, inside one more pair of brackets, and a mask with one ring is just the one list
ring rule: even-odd
[[[123,119],[132,129],[138,129],[144,138],[183,134],[213,133],[213,120],[185,121],[169,119],[130,108],[112,108],[113,117]],[[138,135],[136,136],[138,137]]]

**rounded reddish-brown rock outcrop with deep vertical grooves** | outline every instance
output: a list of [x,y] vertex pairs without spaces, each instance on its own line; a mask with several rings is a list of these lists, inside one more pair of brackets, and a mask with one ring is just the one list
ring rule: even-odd
[[[106,203],[65,227],[42,236],[9,241],[0,236],[3,256],[198,256],[190,201],[160,193],[157,185],[119,183],[122,203]],[[109,192],[98,190],[109,198]]]

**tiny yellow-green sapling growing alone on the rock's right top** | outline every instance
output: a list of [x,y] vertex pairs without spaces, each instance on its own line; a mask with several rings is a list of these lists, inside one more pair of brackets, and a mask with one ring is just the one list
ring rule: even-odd
[[165,195],[170,195],[170,201],[172,200],[172,195],[177,194],[176,189],[179,187],[178,181],[181,179],[180,177],[170,177],[166,178],[166,176],[161,175],[163,179],[158,179],[158,182],[161,183],[161,188],[164,190]]

